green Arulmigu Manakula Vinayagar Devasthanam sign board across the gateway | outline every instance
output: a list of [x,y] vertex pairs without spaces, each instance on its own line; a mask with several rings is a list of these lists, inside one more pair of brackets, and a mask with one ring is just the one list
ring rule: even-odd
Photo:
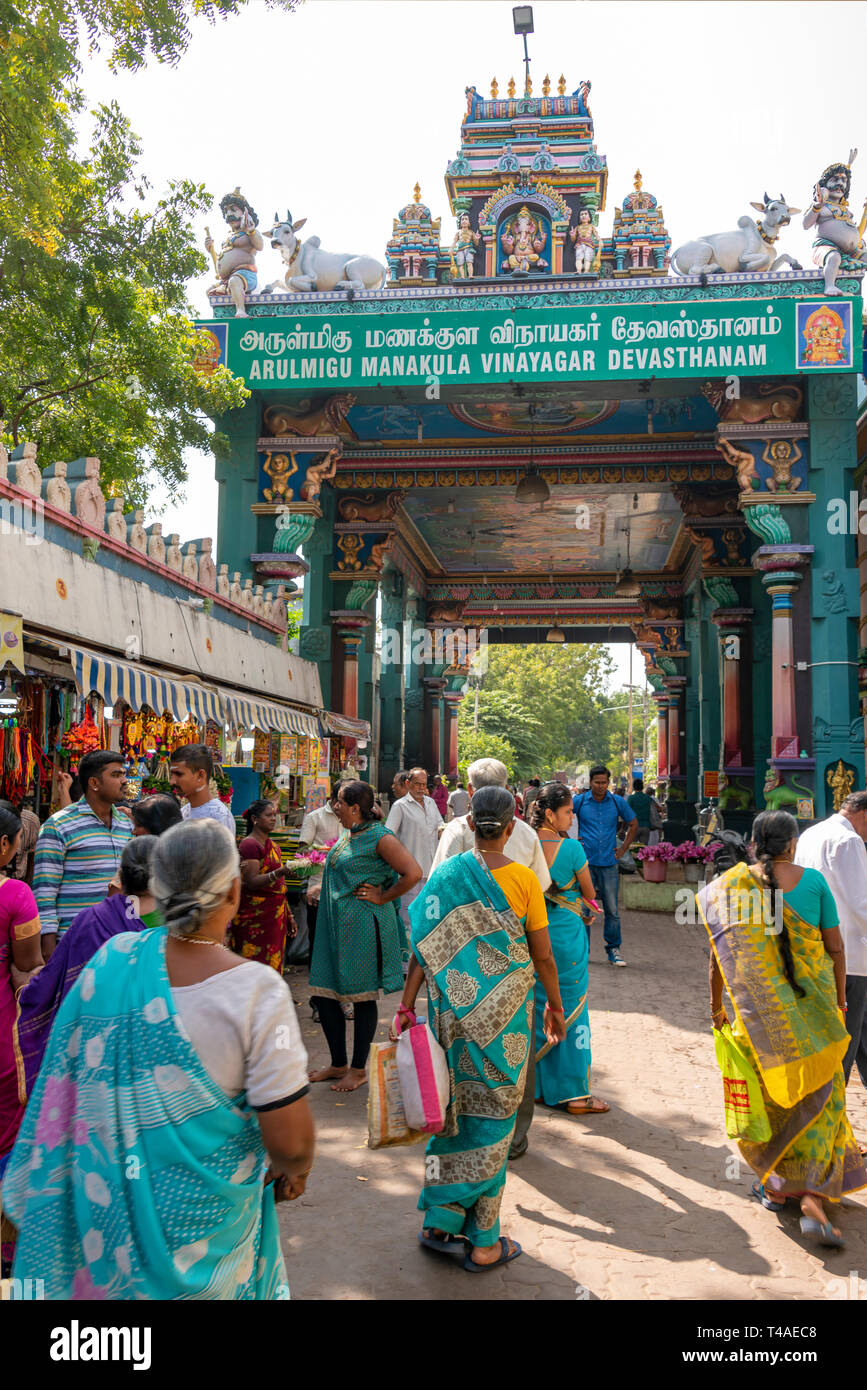
[[727,300],[689,304],[534,306],[518,311],[432,310],[379,316],[290,316],[261,327],[238,320],[201,325],[222,361],[250,386],[443,385],[475,382],[660,379],[745,371],[860,371],[854,302]]

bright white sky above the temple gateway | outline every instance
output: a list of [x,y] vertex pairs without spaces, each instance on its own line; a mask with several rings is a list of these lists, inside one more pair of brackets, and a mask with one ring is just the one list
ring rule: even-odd
[[[860,211],[867,4],[542,0],[534,17],[534,89],[546,72],[553,83],[563,72],[570,92],[592,82],[596,147],[609,161],[604,235],[636,168],[677,247],[736,225],[766,189],[804,208],[823,168],[856,145]],[[157,189],[192,178],[217,204],[239,183],[261,227],[289,208],[327,249],[382,259],[417,179],[450,240],[443,174],[460,145],[464,88],[486,96],[493,76],[503,90],[521,74],[503,0],[306,0],[297,14],[253,0],[213,28],[195,22],[176,68],[115,78],[92,60],[85,88],[90,104],[117,99]],[[217,206],[203,239],[206,222],[220,239]],[[781,249],[811,264],[800,218]],[[260,285],[276,279],[278,253],[267,247],[258,265]],[[203,316],[208,282],[190,285]],[[186,500],[167,507],[164,530],[215,535],[213,460],[190,457],[189,468]],[[613,648],[624,681],[627,651]]]

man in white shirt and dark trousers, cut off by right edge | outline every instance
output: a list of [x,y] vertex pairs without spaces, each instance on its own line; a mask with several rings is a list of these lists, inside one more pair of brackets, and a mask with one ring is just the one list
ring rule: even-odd
[[824,874],[841,919],[846,949],[846,1027],[843,1076],[857,1062],[867,1086],[867,791],[846,796],[839,812],[800,835],[795,863]]

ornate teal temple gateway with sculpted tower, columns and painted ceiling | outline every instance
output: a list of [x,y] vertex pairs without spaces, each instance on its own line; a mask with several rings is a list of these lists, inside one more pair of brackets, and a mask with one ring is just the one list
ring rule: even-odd
[[[745,189],[731,231],[672,252],[641,172],[604,220],[588,81],[493,79],[465,89],[452,227],[415,185],[385,286],[283,277],[240,318],[211,296],[203,364],[250,389],[220,420],[217,564],[303,584],[300,653],[372,730],[382,788],[413,762],[454,774],[475,655],[549,634],[638,645],[685,826],[717,790],[736,824],[864,785],[850,164],[811,199],[806,171],[799,207],[766,192],[753,215]],[[702,196],[713,213],[710,172]],[[817,268],[785,250],[802,207]]]

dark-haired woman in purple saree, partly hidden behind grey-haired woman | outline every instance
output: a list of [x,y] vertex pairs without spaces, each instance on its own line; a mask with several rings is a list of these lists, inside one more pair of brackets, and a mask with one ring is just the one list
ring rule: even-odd
[[156,835],[138,835],[121,855],[121,892],[85,908],[64,931],[49,963],[18,998],[18,1054],[24,1102],[33,1091],[51,1024],[83,967],[111,937],[161,926],[147,880]]

